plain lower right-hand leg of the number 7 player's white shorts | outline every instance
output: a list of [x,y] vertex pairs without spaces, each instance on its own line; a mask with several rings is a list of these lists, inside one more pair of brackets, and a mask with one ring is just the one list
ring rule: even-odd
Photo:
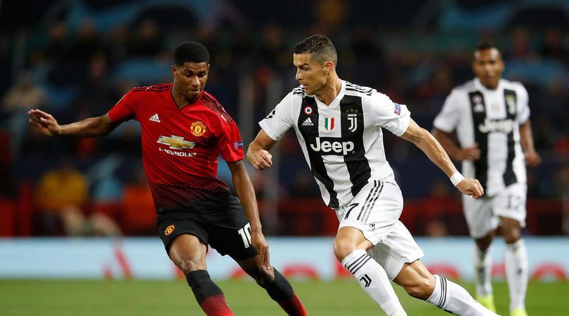
[[394,280],[406,263],[413,263],[424,256],[407,227],[400,221],[397,221],[389,234],[367,253],[384,268],[389,280]]

